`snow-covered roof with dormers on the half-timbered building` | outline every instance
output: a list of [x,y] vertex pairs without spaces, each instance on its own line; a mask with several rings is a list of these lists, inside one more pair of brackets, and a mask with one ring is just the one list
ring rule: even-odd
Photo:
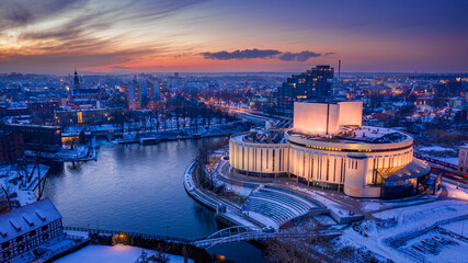
[[50,199],[45,198],[0,215],[0,243],[61,218]]

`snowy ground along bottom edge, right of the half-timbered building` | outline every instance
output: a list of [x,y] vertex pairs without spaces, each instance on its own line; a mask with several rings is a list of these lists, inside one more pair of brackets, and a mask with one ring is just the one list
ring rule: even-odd
[[[113,247],[109,245],[88,245],[75,253],[66,255],[55,262],[57,263],[135,263],[140,256],[144,249],[116,244]],[[148,255],[155,254],[155,251],[145,250]],[[169,255],[169,262],[171,263],[183,263],[184,258],[179,255]],[[193,262],[189,260],[189,262]]]

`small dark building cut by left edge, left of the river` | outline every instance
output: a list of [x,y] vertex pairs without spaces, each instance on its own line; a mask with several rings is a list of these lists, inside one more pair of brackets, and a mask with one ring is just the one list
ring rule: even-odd
[[23,134],[12,130],[0,130],[0,163],[13,162],[23,157]]

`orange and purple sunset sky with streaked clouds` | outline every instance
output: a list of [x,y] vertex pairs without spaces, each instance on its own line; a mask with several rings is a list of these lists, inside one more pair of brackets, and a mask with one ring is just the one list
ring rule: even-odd
[[467,0],[1,0],[0,72],[467,72]]

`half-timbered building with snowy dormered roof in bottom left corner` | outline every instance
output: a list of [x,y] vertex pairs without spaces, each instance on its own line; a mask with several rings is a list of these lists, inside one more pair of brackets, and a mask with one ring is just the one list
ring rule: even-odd
[[42,199],[0,215],[1,262],[32,262],[39,247],[64,239],[61,215],[48,199]]

